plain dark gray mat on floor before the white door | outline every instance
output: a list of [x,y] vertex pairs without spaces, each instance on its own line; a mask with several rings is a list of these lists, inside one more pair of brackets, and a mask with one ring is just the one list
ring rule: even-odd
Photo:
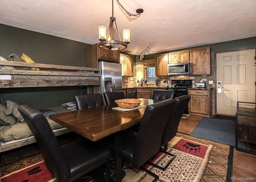
[[226,119],[204,117],[190,136],[236,147],[236,123]]

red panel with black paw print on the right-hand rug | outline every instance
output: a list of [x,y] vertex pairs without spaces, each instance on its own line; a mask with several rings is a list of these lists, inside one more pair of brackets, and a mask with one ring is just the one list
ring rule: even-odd
[[195,155],[201,158],[204,158],[208,148],[209,146],[207,145],[203,145],[201,143],[196,143],[196,142],[185,140],[185,139],[180,139],[180,141],[174,147],[174,149],[177,149],[179,151],[182,151],[191,155]]

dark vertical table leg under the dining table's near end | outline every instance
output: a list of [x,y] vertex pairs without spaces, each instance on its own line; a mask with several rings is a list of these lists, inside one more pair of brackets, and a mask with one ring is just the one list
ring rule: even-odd
[[115,133],[115,155],[116,155],[116,171],[115,171],[115,182],[122,181],[122,135],[121,132]]

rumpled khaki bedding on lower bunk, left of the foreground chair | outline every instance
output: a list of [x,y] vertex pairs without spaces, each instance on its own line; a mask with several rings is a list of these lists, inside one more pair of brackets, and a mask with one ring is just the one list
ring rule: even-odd
[[17,123],[0,127],[0,140],[4,143],[13,140],[24,139],[32,136],[27,123]]

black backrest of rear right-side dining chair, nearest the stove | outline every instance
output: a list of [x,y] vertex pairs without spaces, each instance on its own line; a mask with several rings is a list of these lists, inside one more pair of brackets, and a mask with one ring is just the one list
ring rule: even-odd
[[174,109],[172,110],[170,118],[168,119],[168,122],[164,129],[163,137],[162,137],[162,145],[164,146],[166,146],[167,143],[173,137],[175,137],[178,131],[180,119],[184,114],[186,106],[188,106],[190,95],[179,96],[179,97],[176,97],[174,100],[175,100],[175,106],[174,106]]

